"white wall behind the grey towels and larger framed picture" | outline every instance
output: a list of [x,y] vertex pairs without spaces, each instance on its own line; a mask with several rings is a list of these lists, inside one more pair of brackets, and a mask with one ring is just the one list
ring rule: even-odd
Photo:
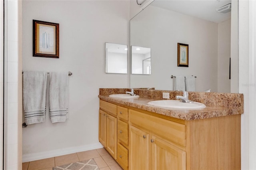
[[[32,57],[32,20],[60,24],[60,58]],[[105,42],[128,44],[129,1],[22,2],[23,70],[71,71],[69,119],[23,128],[23,161],[101,147],[99,88],[127,88],[129,74],[105,73]],[[128,70],[129,72],[129,70]]]

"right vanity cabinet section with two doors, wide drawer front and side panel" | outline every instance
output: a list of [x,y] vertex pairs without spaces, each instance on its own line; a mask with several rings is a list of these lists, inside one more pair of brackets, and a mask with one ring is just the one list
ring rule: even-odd
[[131,170],[241,168],[240,115],[166,119],[129,109]]

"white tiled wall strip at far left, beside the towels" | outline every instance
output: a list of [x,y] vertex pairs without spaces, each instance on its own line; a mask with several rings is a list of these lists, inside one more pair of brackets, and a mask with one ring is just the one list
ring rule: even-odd
[[[18,170],[21,169],[21,144],[20,133],[21,121],[19,116],[19,109],[21,100],[20,91],[20,67],[19,67],[19,42],[21,35],[19,35],[21,21],[19,20],[19,12],[21,8],[21,1],[6,0],[5,8],[5,46],[4,46],[4,65],[6,66],[4,76],[6,78],[4,88],[5,92],[5,128],[6,128],[6,169]],[[7,86],[7,87],[6,87]],[[7,101],[7,103],[6,103]]]

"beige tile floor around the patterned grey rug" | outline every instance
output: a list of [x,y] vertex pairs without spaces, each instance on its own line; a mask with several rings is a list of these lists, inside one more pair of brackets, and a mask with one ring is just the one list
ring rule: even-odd
[[55,166],[94,159],[100,170],[122,170],[105,148],[77,152],[41,160],[22,163],[22,170],[52,170]]

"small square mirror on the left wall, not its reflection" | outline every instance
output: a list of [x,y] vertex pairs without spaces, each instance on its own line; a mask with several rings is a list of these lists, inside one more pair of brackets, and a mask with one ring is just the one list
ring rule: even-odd
[[127,45],[106,43],[106,73],[127,74]]

